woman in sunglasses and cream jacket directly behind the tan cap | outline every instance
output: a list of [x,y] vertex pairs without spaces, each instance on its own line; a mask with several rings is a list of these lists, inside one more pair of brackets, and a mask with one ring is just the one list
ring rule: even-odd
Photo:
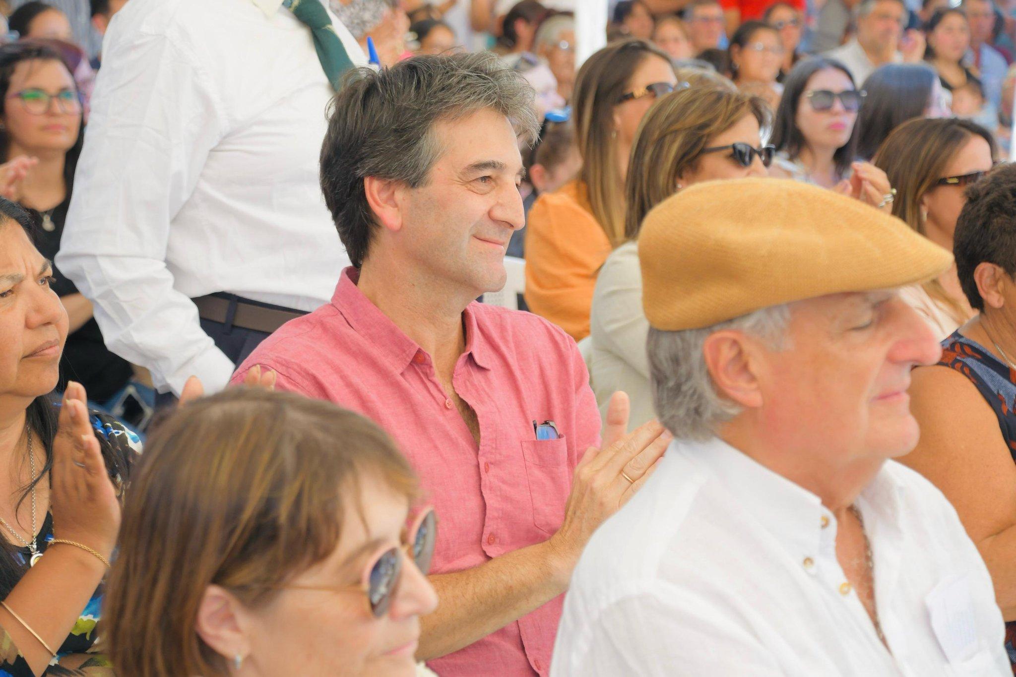
[[626,185],[625,243],[596,279],[587,357],[601,412],[615,391],[628,393],[629,429],[653,418],[637,248],[642,218],[692,184],[764,177],[773,149],[762,137],[771,115],[757,96],[706,84],[665,96],[642,121]]

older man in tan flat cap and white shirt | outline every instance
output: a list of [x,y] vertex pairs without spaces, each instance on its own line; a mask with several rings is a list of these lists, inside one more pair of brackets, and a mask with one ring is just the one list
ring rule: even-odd
[[812,186],[687,188],[639,239],[675,441],[575,569],[552,677],[1011,675],[955,511],[892,459],[940,348],[896,289],[948,252]]

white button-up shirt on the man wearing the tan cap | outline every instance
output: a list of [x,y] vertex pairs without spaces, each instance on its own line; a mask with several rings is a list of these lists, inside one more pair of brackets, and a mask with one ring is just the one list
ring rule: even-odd
[[890,461],[855,504],[892,654],[818,496],[718,439],[675,442],[583,552],[551,675],[1011,675],[988,569],[942,493]]

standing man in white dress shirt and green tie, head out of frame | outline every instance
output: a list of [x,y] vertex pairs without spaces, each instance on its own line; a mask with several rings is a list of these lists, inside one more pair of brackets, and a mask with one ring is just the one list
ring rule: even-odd
[[133,0],[112,22],[58,265],[160,392],[219,390],[330,298],[348,258],[318,154],[366,61],[321,0]]

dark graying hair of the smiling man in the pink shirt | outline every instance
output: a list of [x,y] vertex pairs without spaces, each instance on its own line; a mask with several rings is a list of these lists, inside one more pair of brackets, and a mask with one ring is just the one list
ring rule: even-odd
[[483,110],[504,115],[530,143],[539,129],[532,87],[490,52],[406,59],[356,69],[329,107],[321,146],[321,190],[353,265],[367,256],[376,227],[364,179],[419,188],[440,157],[434,126]]

